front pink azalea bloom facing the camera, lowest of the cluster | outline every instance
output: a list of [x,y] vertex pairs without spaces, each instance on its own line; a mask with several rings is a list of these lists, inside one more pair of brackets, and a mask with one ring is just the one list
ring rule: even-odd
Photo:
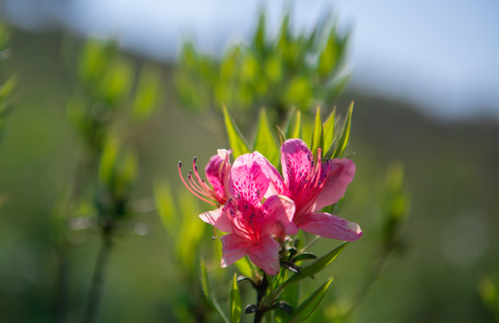
[[261,203],[269,187],[266,174],[273,168],[258,152],[241,155],[232,165],[227,203],[200,215],[206,223],[229,232],[221,238],[223,267],[248,255],[268,275],[279,273],[280,244],[273,236],[281,231],[294,234],[298,229],[293,223],[292,200],[270,196]]

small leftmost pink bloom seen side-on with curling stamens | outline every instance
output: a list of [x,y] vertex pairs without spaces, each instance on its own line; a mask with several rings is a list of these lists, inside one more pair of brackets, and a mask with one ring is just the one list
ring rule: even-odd
[[192,161],[194,178],[192,171],[188,172],[188,181],[184,179],[181,172],[182,163],[179,162],[179,175],[188,190],[211,205],[224,205],[227,202],[226,181],[231,170],[230,153],[225,149],[219,149],[218,154],[212,156],[206,164],[206,178],[213,186],[210,188],[204,179],[199,177],[197,172],[196,157]]

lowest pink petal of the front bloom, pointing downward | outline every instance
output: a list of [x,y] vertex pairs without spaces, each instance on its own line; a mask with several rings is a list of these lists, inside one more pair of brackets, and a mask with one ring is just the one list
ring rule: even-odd
[[279,249],[281,246],[272,237],[260,240],[259,244],[250,247],[248,255],[253,264],[263,269],[267,275],[279,274]]

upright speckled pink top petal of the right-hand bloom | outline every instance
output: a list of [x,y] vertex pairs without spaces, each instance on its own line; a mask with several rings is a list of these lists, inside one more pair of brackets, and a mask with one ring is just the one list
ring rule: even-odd
[[293,189],[301,179],[307,177],[312,159],[311,150],[301,139],[285,141],[281,147],[281,166],[288,188]]

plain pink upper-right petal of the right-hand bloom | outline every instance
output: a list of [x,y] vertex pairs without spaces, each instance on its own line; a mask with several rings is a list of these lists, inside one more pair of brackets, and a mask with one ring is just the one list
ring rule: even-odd
[[[324,164],[323,164],[324,165]],[[345,195],[346,187],[352,182],[355,175],[355,163],[349,159],[334,159],[328,162],[324,186],[315,200],[311,211],[319,211],[324,206],[333,205]]]

